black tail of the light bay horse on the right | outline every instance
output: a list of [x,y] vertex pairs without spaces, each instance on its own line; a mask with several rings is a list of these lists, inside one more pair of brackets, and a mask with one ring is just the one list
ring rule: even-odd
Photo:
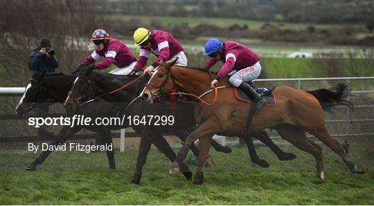
[[306,91],[317,98],[319,104],[321,104],[322,109],[328,113],[334,114],[332,109],[334,106],[344,105],[349,108],[353,108],[353,104],[347,100],[344,100],[344,97],[348,95],[348,84],[339,83],[332,90],[326,88],[320,88],[313,91]]

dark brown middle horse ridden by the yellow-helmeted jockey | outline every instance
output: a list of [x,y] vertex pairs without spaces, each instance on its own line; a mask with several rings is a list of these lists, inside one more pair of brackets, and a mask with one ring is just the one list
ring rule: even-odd
[[[108,102],[127,102],[129,101],[129,97],[124,95],[121,92],[112,93],[110,95],[105,95],[109,91],[114,91],[116,88],[120,88],[125,84],[125,79],[128,77],[122,75],[112,75],[107,73],[101,73],[97,71],[91,71],[91,69],[87,69],[86,71],[78,73],[78,78],[75,80],[73,87],[71,88],[71,94],[66,99],[66,106],[71,108],[75,108],[80,102],[80,100],[86,97],[94,97],[94,96],[102,96],[104,100]],[[149,78],[148,78],[149,79]],[[147,79],[147,81],[148,81]],[[145,84],[144,84],[145,85]],[[125,90],[132,89],[131,87],[125,88]],[[143,89],[143,87],[141,88]],[[140,92],[139,92],[140,94]],[[128,109],[126,114],[127,115],[169,115],[172,114],[172,105],[167,103],[157,103],[157,105],[149,105],[143,104],[139,101],[134,102]],[[196,129],[195,127],[195,115],[193,112],[195,110],[195,104],[191,104],[190,102],[177,102],[175,105],[175,124],[172,126],[172,130],[180,130],[186,129],[188,127],[192,127],[190,131]],[[137,126],[132,126],[136,129]],[[157,132],[157,133],[165,133],[170,130],[168,126],[156,126],[156,125],[149,125],[147,130],[150,132]],[[264,134],[265,133],[265,134]],[[280,160],[293,160],[296,156],[293,153],[285,153],[279,147],[274,144],[267,135],[265,131],[259,132],[254,135],[255,138],[258,138],[265,144],[274,153]],[[150,150],[150,141],[143,140],[145,137],[141,137],[141,146],[139,147],[139,157],[138,162],[136,163],[136,173],[141,171],[141,168],[145,164],[145,160],[147,158],[147,154]],[[256,150],[254,149],[252,139],[250,135],[244,137],[244,140],[247,142],[247,147],[249,149],[249,153],[251,156],[252,162],[256,162],[261,167],[269,167],[269,164],[266,160],[260,160],[256,154]],[[212,142],[213,143],[213,142]],[[214,142],[215,143],[215,142]],[[213,147],[216,146],[217,143],[212,144]],[[195,147],[195,144],[191,145]],[[217,149],[216,149],[217,150]]]

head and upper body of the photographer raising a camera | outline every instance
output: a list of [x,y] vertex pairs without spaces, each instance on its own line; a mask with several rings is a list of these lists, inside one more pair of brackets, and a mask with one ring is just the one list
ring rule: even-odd
[[49,39],[42,39],[40,46],[31,51],[28,57],[28,67],[34,73],[46,71],[46,73],[55,73],[55,68],[59,66],[58,59],[55,57],[55,50],[51,48]]

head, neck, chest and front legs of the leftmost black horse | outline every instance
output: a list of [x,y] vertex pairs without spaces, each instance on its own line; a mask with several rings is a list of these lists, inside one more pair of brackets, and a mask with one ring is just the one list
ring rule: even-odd
[[[71,85],[73,84],[76,75],[66,75],[63,73],[35,73],[30,80],[30,83],[26,86],[26,91],[23,97],[19,101],[19,104],[15,108],[18,115],[26,115],[31,109],[36,109],[39,104],[46,102],[48,99],[54,99],[57,102],[64,102],[67,93],[70,91]],[[100,100],[100,104],[105,104],[105,101]],[[92,112],[90,106],[82,108],[82,114],[87,114],[96,117],[104,117],[108,113],[112,113],[113,108],[107,106],[105,110]],[[60,133],[56,136],[49,145],[58,145],[65,142],[71,135],[80,131],[83,127],[76,126],[64,126]],[[96,131],[100,134],[101,140],[104,143],[112,144],[112,133],[108,127],[84,127],[91,131]],[[37,165],[41,165],[42,162],[52,153],[52,151],[42,151],[39,156],[31,162],[25,169],[34,171]],[[116,164],[114,161],[114,151],[107,151],[107,158],[109,160],[109,168],[115,169]]]

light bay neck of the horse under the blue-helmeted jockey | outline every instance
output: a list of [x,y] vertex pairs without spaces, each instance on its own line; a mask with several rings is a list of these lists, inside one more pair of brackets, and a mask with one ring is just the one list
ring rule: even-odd
[[201,95],[202,93],[211,89],[211,77],[214,78],[216,75],[203,71],[197,71],[191,68],[183,68],[175,66],[173,67],[177,71],[172,73],[175,77],[175,83],[181,88],[193,93],[194,95]]

